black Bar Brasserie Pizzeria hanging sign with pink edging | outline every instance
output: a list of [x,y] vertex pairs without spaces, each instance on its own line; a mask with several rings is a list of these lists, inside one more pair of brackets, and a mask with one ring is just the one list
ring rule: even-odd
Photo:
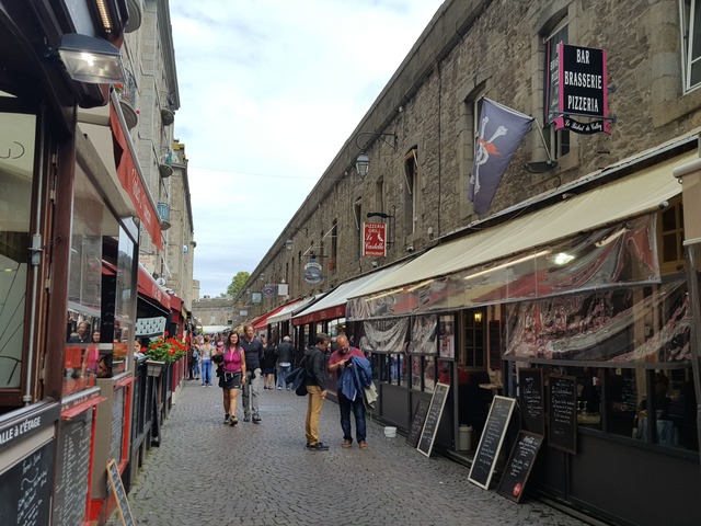
[[[558,44],[558,75],[549,77],[558,82],[558,116],[555,129],[570,129],[577,134],[596,134],[609,129],[608,75],[606,49]],[[556,79],[556,80],[555,80]],[[555,101],[553,101],[555,102]],[[579,122],[574,116],[594,117]],[[597,118],[599,117],[599,118]]]

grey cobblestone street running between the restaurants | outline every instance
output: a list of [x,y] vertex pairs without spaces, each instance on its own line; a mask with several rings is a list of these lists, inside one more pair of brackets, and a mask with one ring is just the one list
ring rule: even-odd
[[[469,469],[426,458],[368,420],[368,449],[341,447],[338,407],[324,402],[304,447],[307,398],[261,392],[261,424],[222,424],[221,389],[187,381],[129,493],[139,525],[547,525],[585,523],[525,498],[516,504],[468,481]],[[120,525],[118,514],[110,526]]]

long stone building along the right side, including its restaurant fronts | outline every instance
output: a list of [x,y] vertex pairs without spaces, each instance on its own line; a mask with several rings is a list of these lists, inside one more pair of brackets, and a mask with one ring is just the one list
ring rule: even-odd
[[[543,389],[564,377],[572,444],[556,444],[559,405],[545,399],[538,433],[548,443],[531,490],[614,524],[663,524],[670,510],[678,524],[696,524],[701,235],[688,191],[701,165],[697,7],[444,2],[241,297],[258,291],[262,276],[288,285],[290,299],[327,293],[323,308],[271,315],[279,325],[269,331],[295,330],[301,347],[343,322],[371,359],[376,416],[404,432],[437,382],[448,385],[436,446],[467,461],[475,454],[459,449],[460,428],[482,433],[495,392],[519,398],[525,370],[542,374]],[[548,101],[558,94],[550,81],[563,88],[560,43],[606,50],[610,134],[555,129]],[[485,99],[536,122],[479,215],[468,198],[474,151],[498,133],[481,135]],[[359,153],[370,162],[364,178]],[[384,258],[361,255],[368,220],[387,225]],[[324,279],[310,285],[312,260]],[[384,270],[371,285],[352,285]],[[614,498],[606,479],[619,481]]]

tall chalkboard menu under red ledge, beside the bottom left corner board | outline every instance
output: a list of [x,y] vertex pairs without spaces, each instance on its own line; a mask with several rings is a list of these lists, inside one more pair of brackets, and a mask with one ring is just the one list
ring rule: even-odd
[[56,462],[53,524],[82,524],[88,499],[92,408],[61,420]]

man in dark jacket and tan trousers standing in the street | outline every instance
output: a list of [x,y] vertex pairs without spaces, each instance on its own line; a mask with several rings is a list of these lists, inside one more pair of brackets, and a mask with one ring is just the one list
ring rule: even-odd
[[329,446],[319,441],[319,416],[326,398],[324,353],[329,348],[331,339],[327,334],[320,332],[317,334],[315,342],[317,344],[313,347],[309,347],[304,353],[307,392],[309,393],[304,433],[307,435],[307,449],[310,451],[325,451]]

